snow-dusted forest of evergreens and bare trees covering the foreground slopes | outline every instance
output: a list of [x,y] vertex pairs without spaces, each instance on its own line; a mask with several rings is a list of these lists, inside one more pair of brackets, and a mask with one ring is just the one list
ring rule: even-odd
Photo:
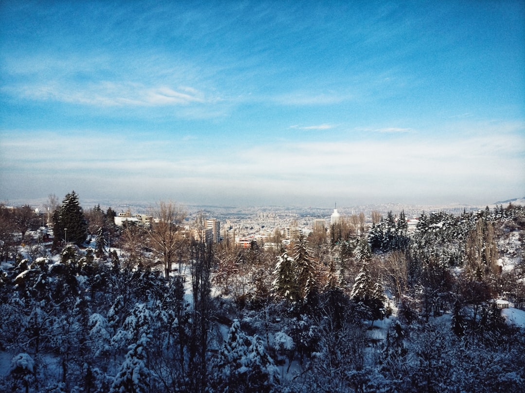
[[51,208],[45,238],[0,205],[0,391],[525,391],[520,205],[267,249],[185,231],[172,203],[122,227],[75,192]]

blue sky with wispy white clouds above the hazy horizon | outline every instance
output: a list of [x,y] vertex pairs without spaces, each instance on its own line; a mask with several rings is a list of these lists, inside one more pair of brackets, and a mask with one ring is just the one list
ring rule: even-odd
[[71,190],[525,196],[525,2],[0,0],[0,201]]

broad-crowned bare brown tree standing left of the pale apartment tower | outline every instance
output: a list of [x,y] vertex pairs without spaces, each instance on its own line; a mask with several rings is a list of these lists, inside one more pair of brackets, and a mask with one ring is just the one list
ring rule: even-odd
[[172,202],[160,202],[153,212],[148,231],[148,241],[156,256],[164,265],[164,275],[170,277],[177,249],[182,244],[180,229],[186,214]]

